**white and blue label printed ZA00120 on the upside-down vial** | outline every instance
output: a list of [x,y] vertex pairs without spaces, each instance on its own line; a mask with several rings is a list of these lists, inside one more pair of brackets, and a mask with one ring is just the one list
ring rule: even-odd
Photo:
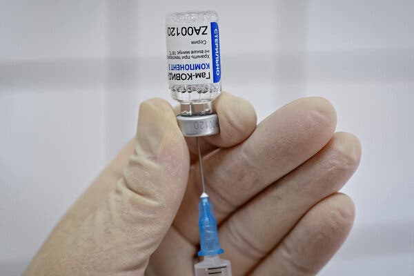
[[170,86],[220,81],[217,22],[167,25],[166,37]]

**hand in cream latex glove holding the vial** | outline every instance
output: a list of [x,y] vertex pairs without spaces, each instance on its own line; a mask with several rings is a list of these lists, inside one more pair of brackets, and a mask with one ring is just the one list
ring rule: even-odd
[[[353,224],[353,202],[337,191],[359,164],[358,139],[334,132],[322,98],[293,101],[258,126],[243,99],[224,92],[214,107],[221,132],[200,143],[222,257],[235,276],[314,275]],[[145,101],[135,140],[24,275],[193,275],[200,187],[195,139],[183,137],[170,104]]]

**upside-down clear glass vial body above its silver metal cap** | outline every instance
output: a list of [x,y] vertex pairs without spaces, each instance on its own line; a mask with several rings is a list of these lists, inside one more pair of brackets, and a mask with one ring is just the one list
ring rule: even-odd
[[217,12],[175,12],[166,17],[167,77],[181,115],[206,115],[221,92]]

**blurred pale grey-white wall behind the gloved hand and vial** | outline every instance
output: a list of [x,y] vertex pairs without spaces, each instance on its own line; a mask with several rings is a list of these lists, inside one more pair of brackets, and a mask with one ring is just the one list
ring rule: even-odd
[[350,238],[321,275],[414,274],[412,1],[0,2],[0,274],[18,275],[59,217],[165,97],[164,14],[215,9],[224,88],[259,118],[331,100],[362,141],[344,188]]

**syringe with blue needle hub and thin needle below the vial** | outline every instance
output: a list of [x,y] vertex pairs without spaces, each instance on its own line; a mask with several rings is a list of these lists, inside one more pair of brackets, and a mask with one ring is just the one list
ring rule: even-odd
[[217,232],[217,222],[213,212],[213,205],[206,193],[204,184],[203,164],[201,162],[200,146],[198,138],[197,149],[199,153],[199,166],[203,193],[199,202],[199,231],[200,249],[198,255],[203,256],[204,260],[195,264],[196,276],[225,275],[231,276],[231,264],[227,259],[221,259],[220,254],[224,250],[220,248],[219,235]]

